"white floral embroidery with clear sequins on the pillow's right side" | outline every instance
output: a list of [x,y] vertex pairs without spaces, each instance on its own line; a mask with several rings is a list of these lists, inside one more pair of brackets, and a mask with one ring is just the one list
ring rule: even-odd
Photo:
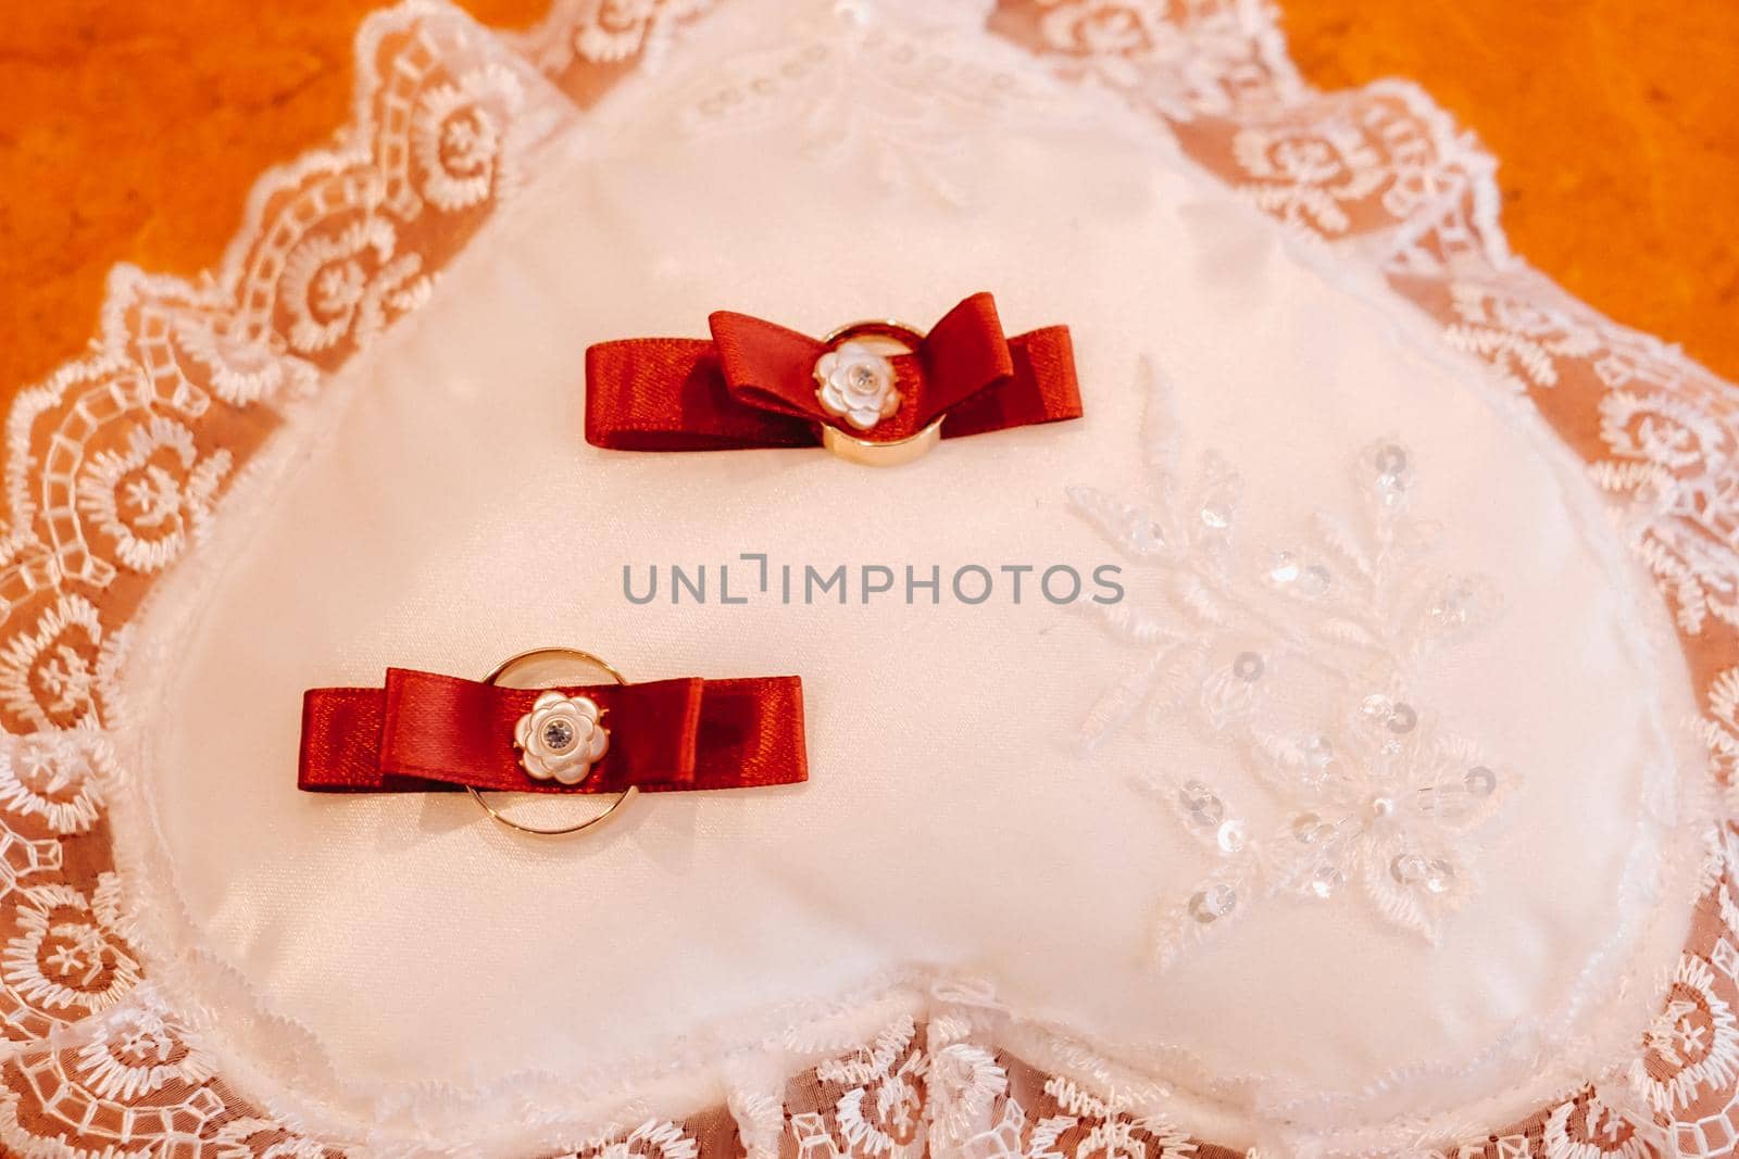
[[1308,542],[1252,563],[1235,547],[1238,474],[1209,454],[1200,481],[1183,488],[1165,391],[1156,381],[1149,391],[1151,499],[1069,490],[1085,518],[1153,568],[1162,593],[1158,612],[1097,608],[1141,662],[1097,702],[1083,737],[1097,744],[1137,714],[1193,721],[1285,813],[1259,831],[1231,792],[1198,775],[1151,778],[1219,862],[1167,905],[1162,966],[1257,898],[1329,898],[1349,883],[1389,923],[1435,940],[1473,888],[1462,838],[1490,820],[1515,777],[1409,688],[1438,646],[1490,619],[1490,582],[1433,579],[1435,528],[1407,514],[1416,476],[1393,441],[1355,460],[1362,521],[1318,513]]

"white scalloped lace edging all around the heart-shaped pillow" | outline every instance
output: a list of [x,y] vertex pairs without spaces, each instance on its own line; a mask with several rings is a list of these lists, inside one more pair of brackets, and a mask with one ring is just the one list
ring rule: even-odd
[[[151,579],[198,542],[283,407],[426,301],[511,191],[523,149],[562,115],[539,90],[553,83],[588,106],[708,7],[562,0],[516,42],[537,68],[438,3],[377,16],[358,36],[355,120],[339,144],[261,179],[216,275],[117,269],[99,353],[19,394],[0,535],[0,723],[14,733],[0,745],[0,1138],[14,1149],[337,1154],[230,1089],[141,978],[103,813],[115,657]],[[1628,504],[1626,532],[1675,606],[1708,700],[1701,732],[1730,791],[1734,387],[1513,259],[1490,156],[1416,85],[1308,90],[1259,0],[1003,0],[991,26],[1163,120],[1269,214],[1370,261],[1452,348],[1534,400]],[[1469,1124],[1456,1154],[1727,1154],[1739,1136],[1730,844],[1729,832],[1633,1072],[1513,1129]],[[1054,1050],[1057,1074],[1007,1055],[988,1017],[974,1003],[932,1004],[922,1023],[899,1017],[835,1043],[838,1058],[783,1089],[741,1088],[683,1123],[619,1124],[579,1154],[1075,1157],[1111,1140],[1148,1157],[1226,1154],[1106,1093],[1111,1072],[1085,1051]]]

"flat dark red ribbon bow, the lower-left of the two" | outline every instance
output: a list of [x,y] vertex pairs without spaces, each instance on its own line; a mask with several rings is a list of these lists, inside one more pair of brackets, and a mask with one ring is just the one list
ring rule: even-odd
[[562,688],[603,709],[610,749],[577,785],[536,780],[513,726],[544,688],[388,669],[384,688],[303,697],[296,785],[308,792],[643,792],[748,789],[809,778],[796,676]]

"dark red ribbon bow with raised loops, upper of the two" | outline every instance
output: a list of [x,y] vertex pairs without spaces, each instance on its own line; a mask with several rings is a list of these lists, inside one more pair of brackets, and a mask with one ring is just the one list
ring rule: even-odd
[[830,346],[748,315],[715,313],[713,339],[621,339],[586,349],[586,441],[612,450],[816,447],[821,427],[887,443],[946,415],[943,438],[1080,419],[1068,327],[1005,339],[989,294],[974,294],[915,351],[894,354],[897,412],[870,431],[816,400]]

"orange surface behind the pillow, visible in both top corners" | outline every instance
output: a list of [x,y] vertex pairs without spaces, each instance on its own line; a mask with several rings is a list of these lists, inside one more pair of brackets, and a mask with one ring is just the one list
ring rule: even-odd
[[[0,396],[117,261],[216,264],[254,177],[343,123],[376,0],[37,0],[0,24]],[[463,0],[525,26],[548,0]],[[1499,156],[1518,252],[1739,381],[1739,3],[1285,0],[1316,85],[1421,82]]]

